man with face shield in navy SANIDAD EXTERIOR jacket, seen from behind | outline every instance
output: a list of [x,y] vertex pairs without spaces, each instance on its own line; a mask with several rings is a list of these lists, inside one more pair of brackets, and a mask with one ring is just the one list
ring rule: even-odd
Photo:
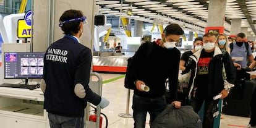
[[65,35],[52,43],[45,53],[40,87],[50,126],[54,128],[83,128],[87,101],[101,108],[109,104],[88,86],[92,53],[79,42],[85,19],[81,11],[65,11],[59,19]]

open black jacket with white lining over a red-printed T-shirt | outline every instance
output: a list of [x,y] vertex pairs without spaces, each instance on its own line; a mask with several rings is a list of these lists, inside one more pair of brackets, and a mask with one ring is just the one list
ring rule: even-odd
[[[179,80],[189,80],[189,97],[192,95],[194,89],[194,80],[197,75],[197,62],[203,49],[198,50],[189,59],[189,66],[186,67],[187,74],[179,75]],[[224,67],[223,67],[224,66]],[[218,46],[215,46],[213,58],[208,66],[208,98],[218,95],[223,90],[224,85],[228,87],[234,86],[236,79],[236,69],[228,52],[222,53]]]

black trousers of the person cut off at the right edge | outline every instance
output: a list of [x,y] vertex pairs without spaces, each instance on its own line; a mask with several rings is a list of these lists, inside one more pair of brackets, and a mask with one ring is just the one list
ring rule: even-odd
[[254,89],[254,93],[252,93],[252,100],[250,101],[250,122],[251,126],[256,126],[256,88]]

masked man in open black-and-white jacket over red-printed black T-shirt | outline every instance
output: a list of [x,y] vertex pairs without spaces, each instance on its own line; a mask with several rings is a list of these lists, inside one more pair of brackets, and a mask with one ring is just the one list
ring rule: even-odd
[[[234,86],[236,69],[227,52],[222,53],[216,46],[216,36],[213,33],[203,35],[203,48],[189,58],[189,66],[179,75],[179,81],[189,81],[190,105],[198,113],[205,101],[203,127],[213,127],[213,113],[219,100],[213,96],[221,94],[226,98],[229,89]],[[214,111],[216,109],[216,111]]]

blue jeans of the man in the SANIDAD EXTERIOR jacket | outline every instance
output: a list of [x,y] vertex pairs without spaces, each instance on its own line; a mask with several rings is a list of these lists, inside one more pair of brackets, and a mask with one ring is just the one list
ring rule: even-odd
[[59,116],[58,114],[48,113],[51,128],[83,128],[85,122],[83,117]]

